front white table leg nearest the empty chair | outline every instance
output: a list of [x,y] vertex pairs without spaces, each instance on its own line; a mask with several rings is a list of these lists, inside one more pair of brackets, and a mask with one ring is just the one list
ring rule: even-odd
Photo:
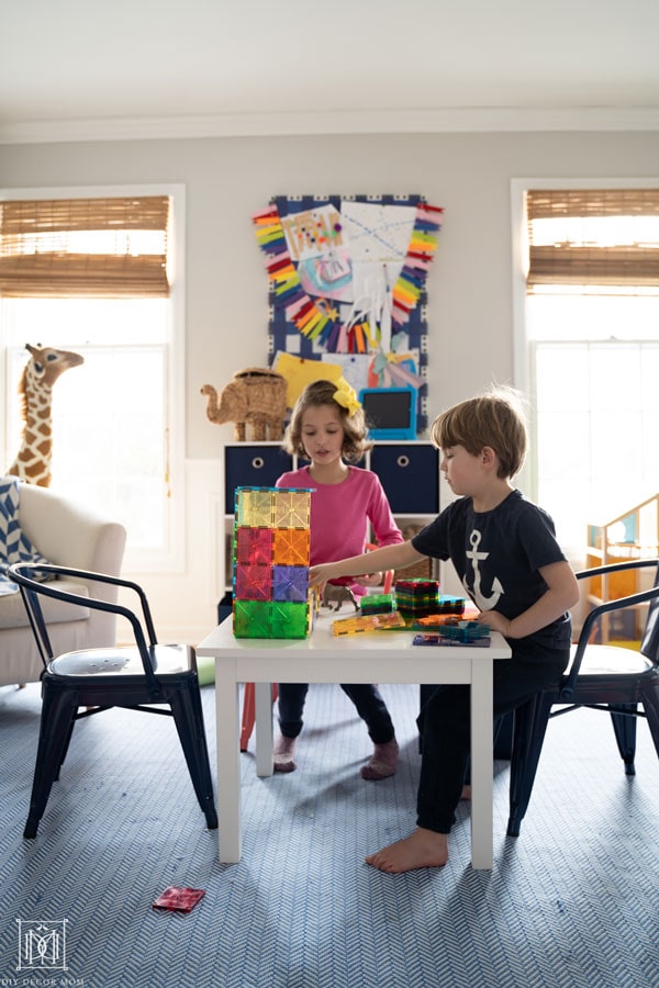
[[215,737],[217,742],[217,842],[220,861],[241,860],[239,689],[232,663],[215,659]]

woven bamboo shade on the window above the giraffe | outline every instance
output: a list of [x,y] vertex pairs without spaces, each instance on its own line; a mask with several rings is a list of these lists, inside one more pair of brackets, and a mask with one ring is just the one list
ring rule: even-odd
[[169,294],[166,195],[0,202],[0,293]]

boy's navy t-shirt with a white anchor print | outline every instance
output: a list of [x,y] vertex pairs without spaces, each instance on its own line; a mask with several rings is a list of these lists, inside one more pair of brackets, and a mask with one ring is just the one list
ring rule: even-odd
[[[538,570],[566,559],[554,521],[521,491],[512,491],[491,512],[474,512],[471,497],[461,497],[415,535],[412,544],[424,555],[450,559],[479,610],[498,610],[510,620],[547,591]],[[570,635],[566,613],[529,640],[562,649]]]

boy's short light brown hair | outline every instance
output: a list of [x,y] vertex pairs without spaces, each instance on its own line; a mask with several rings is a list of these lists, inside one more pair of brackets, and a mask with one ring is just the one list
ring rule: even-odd
[[437,416],[431,439],[438,449],[463,446],[473,457],[489,446],[499,457],[496,475],[515,476],[528,441],[522,395],[512,388],[492,388],[460,402]]

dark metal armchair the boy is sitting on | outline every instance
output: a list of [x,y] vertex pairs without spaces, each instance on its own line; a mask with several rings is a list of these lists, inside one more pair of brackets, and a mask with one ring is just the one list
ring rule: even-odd
[[[572,650],[570,666],[558,688],[538,694],[514,711],[507,826],[510,837],[520,835],[550,718],[579,707],[607,711],[613,721],[625,773],[635,775],[636,723],[638,717],[645,717],[659,756],[659,560],[629,560],[596,566],[577,573],[577,577],[584,580],[650,566],[657,571],[652,590],[640,591],[594,607],[583,622],[579,640]],[[591,643],[590,639],[602,615],[639,604],[648,604],[648,614],[638,651]],[[551,709],[559,704],[559,709]],[[643,710],[638,709],[639,704]]]

